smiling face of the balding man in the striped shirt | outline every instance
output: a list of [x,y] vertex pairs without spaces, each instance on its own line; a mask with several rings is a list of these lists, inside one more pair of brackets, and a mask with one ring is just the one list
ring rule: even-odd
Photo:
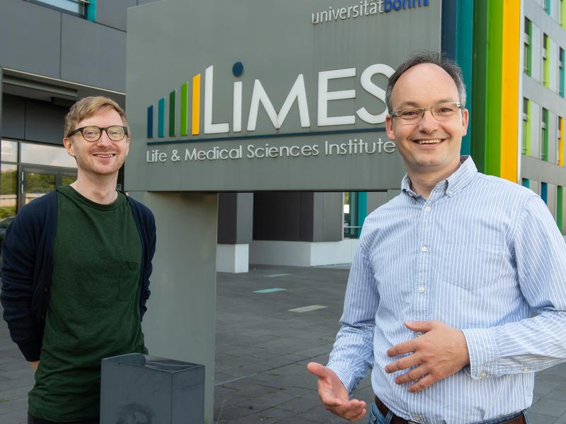
[[[393,110],[459,102],[456,83],[434,64],[418,64],[405,71],[393,86]],[[407,124],[386,117],[388,138],[395,140],[411,178],[439,174],[447,177],[460,165],[462,136],[468,129],[468,110],[439,122],[427,110],[419,122]]]

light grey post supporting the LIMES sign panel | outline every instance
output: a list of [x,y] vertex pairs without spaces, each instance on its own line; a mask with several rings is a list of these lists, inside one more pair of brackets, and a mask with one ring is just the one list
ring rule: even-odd
[[205,367],[204,417],[213,422],[216,194],[130,192],[153,211],[157,245],[142,322],[151,355]]

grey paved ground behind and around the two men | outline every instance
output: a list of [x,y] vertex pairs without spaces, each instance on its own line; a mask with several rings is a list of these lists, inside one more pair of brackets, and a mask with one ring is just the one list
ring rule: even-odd
[[[249,273],[218,273],[214,424],[347,422],[320,405],[316,379],[305,369],[311,360],[328,360],[347,272],[250,266]],[[32,384],[33,372],[1,321],[0,424],[25,424]],[[355,396],[371,403],[369,378]],[[566,363],[536,375],[533,400],[531,424],[566,424]]]

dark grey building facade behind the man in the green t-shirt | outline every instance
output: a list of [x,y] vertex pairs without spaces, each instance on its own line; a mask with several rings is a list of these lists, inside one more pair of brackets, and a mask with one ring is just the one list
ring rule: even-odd
[[74,181],[76,163],[62,143],[70,105],[106,95],[125,106],[126,11],[147,2],[0,2],[0,219],[6,218],[5,224],[37,196]]

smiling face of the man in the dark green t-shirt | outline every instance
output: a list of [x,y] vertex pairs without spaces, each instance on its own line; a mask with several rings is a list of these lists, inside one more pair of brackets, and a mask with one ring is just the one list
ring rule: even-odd
[[[90,117],[82,119],[76,124],[76,128],[88,125],[105,128],[124,123],[116,110],[112,107],[103,107]],[[117,177],[129,149],[128,136],[120,141],[112,141],[108,139],[106,131],[102,131],[98,141],[86,141],[79,132],[68,138],[65,137],[63,143],[67,153],[76,159],[79,176],[85,177]]]

